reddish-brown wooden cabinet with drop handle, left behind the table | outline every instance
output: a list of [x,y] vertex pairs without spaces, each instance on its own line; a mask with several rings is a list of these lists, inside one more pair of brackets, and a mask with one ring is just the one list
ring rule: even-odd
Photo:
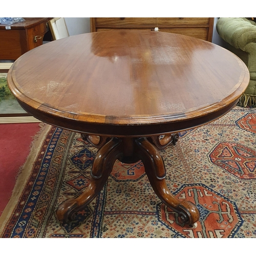
[[25,22],[0,24],[0,59],[16,60],[22,54],[42,45],[49,18],[24,18]]

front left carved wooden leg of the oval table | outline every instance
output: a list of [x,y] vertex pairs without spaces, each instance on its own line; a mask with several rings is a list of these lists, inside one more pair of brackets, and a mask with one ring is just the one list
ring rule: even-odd
[[72,221],[76,212],[98,195],[112,172],[116,159],[122,154],[121,142],[122,139],[112,138],[98,150],[94,158],[89,186],[78,198],[68,199],[59,205],[56,212],[59,221]]

